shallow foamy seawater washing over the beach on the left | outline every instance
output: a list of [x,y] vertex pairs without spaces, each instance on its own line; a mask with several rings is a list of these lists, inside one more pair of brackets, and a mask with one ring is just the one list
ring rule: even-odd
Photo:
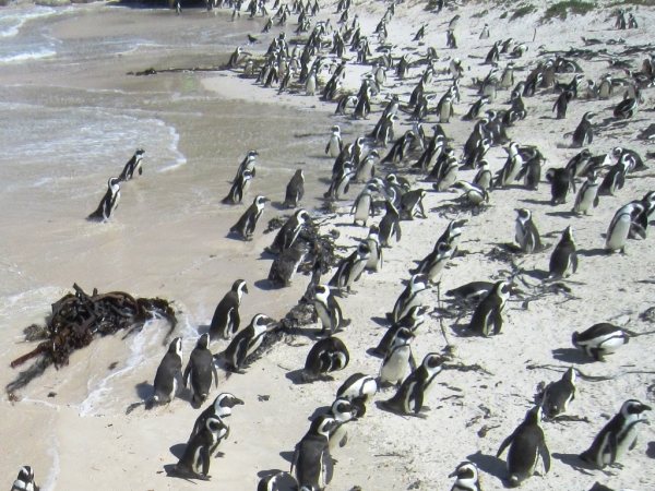
[[[115,27],[95,33],[88,27],[94,15]],[[300,287],[254,286],[271,264],[261,252],[273,235],[261,230],[288,213],[278,208],[297,168],[308,176],[305,206],[320,204],[326,184],[315,176],[332,166],[322,156],[331,121],[313,111],[222,98],[203,89],[198,73],[126,74],[166,63],[218,64],[237,36],[261,22],[235,25],[226,12],[184,17],[108,5],[0,9],[0,335],[12,343],[23,327],[43,324],[50,304],[74,283],[88,292],[124,290],[174,301],[187,357],[235,279],[251,285],[246,323],[258,312],[282,315],[298,300]],[[136,148],[146,152],[143,175],[121,184],[107,224],[87,221],[108,179]],[[223,205],[251,148],[260,157],[245,203]],[[227,238],[257,194],[272,203],[255,240]],[[84,415],[122,412],[147,395],[147,385],[141,393],[135,385],[152,383],[165,352],[167,327],[160,324],[126,340],[119,334],[94,342],[69,367],[33,382],[25,396],[46,402],[53,391],[63,395],[48,404],[71,404]],[[7,366],[32,348],[12,344],[2,361]],[[0,381],[14,375],[5,370]],[[107,402],[100,409],[99,399]]]

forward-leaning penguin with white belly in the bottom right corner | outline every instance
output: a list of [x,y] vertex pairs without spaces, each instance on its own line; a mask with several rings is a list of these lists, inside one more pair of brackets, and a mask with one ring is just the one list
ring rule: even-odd
[[636,445],[642,427],[640,423],[645,421],[643,412],[650,410],[650,406],[636,399],[626,400],[620,412],[605,424],[592,446],[580,454],[580,458],[597,469],[620,462]]

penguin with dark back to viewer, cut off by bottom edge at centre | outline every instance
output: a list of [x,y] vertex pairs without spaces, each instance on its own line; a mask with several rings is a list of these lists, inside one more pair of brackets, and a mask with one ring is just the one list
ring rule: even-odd
[[330,432],[338,422],[330,415],[315,418],[309,431],[296,445],[290,472],[296,475],[298,489],[322,490],[331,480]]

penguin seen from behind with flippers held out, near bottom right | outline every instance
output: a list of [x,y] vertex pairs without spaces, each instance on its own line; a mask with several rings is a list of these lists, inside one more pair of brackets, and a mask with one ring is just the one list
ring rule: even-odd
[[500,445],[496,457],[500,457],[509,446],[508,470],[510,471],[508,486],[517,488],[521,483],[535,474],[539,456],[544,460],[546,472],[550,470],[550,453],[546,446],[544,430],[540,426],[541,408],[535,406],[527,415],[524,421],[516,427],[514,432],[509,435]]

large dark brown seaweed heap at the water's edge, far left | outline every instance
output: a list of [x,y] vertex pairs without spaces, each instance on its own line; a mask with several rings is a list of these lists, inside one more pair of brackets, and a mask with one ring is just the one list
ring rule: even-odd
[[[7,385],[10,399],[14,392],[39,376],[51,364],[59,369],[67,366],[71,352],[88,346],[96,336],[115,334],[127,330],[126,337],[143,327],[146,321],[163,318],[170,323],[164,344],[167,344],[177,319],[167,300],[159,298],[134,298],[123,291],[98,294],[94,288],[90,296],[76,284],[74,294],[67,294],[52,303],[52,315],[45,327],[35,324],[25,328],[25,339],[41,340],[36,349],[11,362],[16,368],[37,358],[26,371]],[[124,339],[124,337],[123,337]]]

